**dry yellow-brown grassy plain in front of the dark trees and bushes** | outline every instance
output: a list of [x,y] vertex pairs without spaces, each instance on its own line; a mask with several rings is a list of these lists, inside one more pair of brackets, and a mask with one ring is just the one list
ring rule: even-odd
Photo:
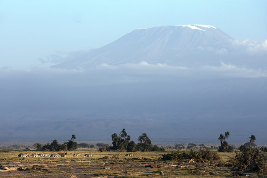
[[[167,151],[167,152],[171,152]],[[227,167],[227,161],[235,153],[218,153],[221,161],[189,160],[162,161],[166,152],[134,152],[134,157],[126,157],[127,152],[96,149],[68,151],[68,156],[60,158],[18,157],[19,153],[47,153],[25,150],[0,150],[1,168],[19,168],[17,171],[0,172],[0,178],[199,178],[234,177],[235,172]],[[48,152],[49,154],[58,152]],[[73,156],[80,153],[81,156]],[[92,158],[84,157],[92,153]],[[4,170],[0,170],[4,171]],[[256,177],[256,173],[249,173]]]

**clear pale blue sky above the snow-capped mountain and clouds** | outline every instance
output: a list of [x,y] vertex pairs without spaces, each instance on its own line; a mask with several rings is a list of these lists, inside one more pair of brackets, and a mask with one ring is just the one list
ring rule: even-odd
[[267,0],[0,0],[0,68],[107,45],[137,28],[207,24],[267,40]]

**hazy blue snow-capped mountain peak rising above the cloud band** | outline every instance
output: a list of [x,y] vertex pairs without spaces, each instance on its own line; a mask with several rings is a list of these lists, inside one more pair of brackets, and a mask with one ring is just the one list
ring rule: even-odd
[[[233,39],[210,25],[175,25],[136,29],[84,56],[72,57],[55,68],[90,68],[94,65],[125,63],[164,63],[192,65],[205,62],[199,56],[227,53]],[[220,58],[220,56],[219,56]]]

